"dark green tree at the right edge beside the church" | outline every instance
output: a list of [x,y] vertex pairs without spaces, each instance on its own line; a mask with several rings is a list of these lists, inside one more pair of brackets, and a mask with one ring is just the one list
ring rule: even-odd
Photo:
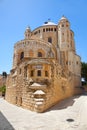
[[85,62],[81,63],[81,77],[84,79],[84,84],[87,84],[87,63]]

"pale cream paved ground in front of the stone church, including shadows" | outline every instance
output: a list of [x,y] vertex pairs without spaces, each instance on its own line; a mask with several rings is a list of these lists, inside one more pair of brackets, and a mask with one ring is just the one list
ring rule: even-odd
[[76,96],[36,113],[0,98],[0,130],[87,130],[87,96]]

